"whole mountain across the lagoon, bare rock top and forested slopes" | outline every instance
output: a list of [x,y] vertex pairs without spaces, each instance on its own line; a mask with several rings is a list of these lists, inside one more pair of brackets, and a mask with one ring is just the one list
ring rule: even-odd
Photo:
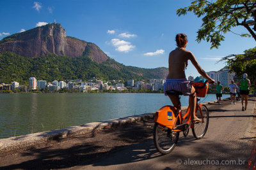
[[[99,46],[66,35],[61,24],[47,24],[0,41],[0,81],[51,81],[92,77],[105,80],[166,78],[168,69],[125,66]],[[0,82],[1,83],[1,82]]]

